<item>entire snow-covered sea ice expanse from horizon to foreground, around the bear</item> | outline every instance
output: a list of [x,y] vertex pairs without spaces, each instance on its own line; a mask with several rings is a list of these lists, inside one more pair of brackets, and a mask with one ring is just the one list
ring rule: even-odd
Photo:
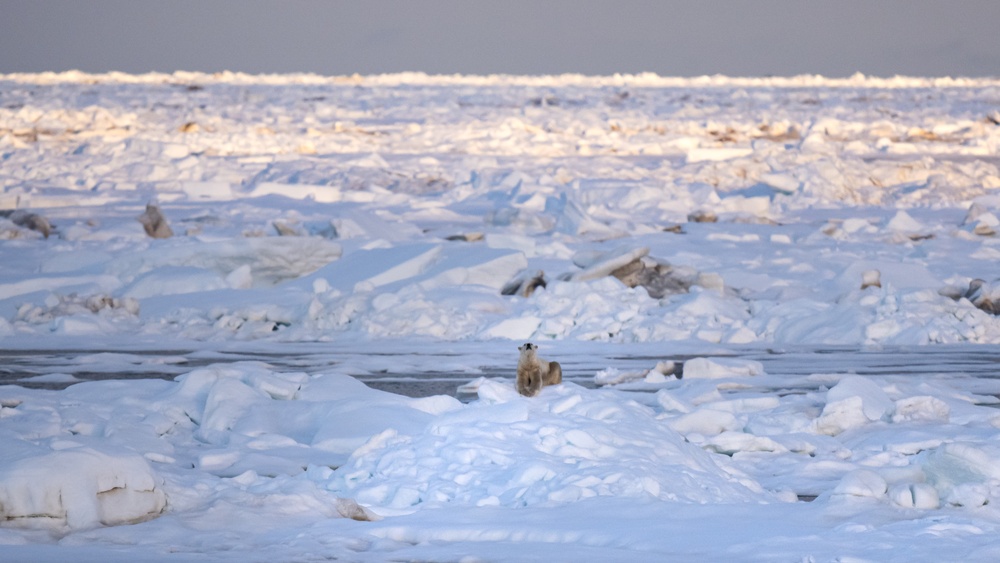
[[0,559],[996,560],[997,99],[0,76]]

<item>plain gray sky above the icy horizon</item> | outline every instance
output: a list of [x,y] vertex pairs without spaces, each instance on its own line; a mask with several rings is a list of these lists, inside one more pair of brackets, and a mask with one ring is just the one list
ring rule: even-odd
[[0,0],[0,73],[1000,76],[1000,0]]

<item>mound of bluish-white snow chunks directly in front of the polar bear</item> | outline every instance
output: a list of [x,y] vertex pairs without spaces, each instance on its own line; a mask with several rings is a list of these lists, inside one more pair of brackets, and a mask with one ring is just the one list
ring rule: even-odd
[[573,384],[525,398],[485,380],[484,399],[423,431],[383,432],[330,488],[378,513],[438,506],[551,506],[597,496],[767,501],[760,485],[693,446],[652,409]]

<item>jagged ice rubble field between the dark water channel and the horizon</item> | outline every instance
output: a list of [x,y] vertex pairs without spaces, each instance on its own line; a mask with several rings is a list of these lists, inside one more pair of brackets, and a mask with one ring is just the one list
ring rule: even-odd
[[[58,236],[0,218],[4,334],[1000,341],[998,321],[951,289],[1000,277],[1000,173],[977,158],[1000,134],[983,119],[989,81],[3,80],[20,101],[0,108],[0,207]],[[93,105],[66,101],[85,89]],[[174,237],[142,237],[149,201]],[[685,223],[696,212],[717,222]],[[454,239],[463,232],[481,238]],[[433,254],[409,262],[421,245]],[[493,261],[484,247],[523,257]],[[605,263],[578,265],[594,253]],[[368,274],[292,283],[338,257]],[[636,270],[619,272],[625,288],[601,279],[616,268]],[[873,270],[882,287],[861,292]],[[537,294],[490,295],[533,272]],[[71,295],[133,296],[142,312],[106,322],[44,305]],[[42,314],[18,313],[26,304]]]

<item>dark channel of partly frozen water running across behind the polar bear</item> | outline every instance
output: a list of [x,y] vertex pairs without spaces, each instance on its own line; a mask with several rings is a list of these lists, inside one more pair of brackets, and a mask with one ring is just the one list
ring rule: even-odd
[[[492,347],[497,348],[497,347]],[[492,350],[492,348],[490,348]],[[517,358],[506,348],[484,353],[484,346],[441,346],[437,351],[401,349],[372,353],[300,345],[294,350],[0,350],[0,385],[62,389],[78,381],[103,379],[173,379],[199,367],[243,361],[263,362],[279,372],[349,373],[375,389],[410,397],[452,395],[477,377],[514,378]],[[594,352],[557,355],[564,379],[594,387],[594,374],[614,367],[640,371],[663,360],[676,363],[693,356],[728,356],[759,361],[769,376],[761,385],[774,389],[817,388],[811,374],[961,377],[974,392],[1000,395],[1000,346],[920,346],[894,349],[756,348],[703,354],[649,354],[648,347],[604,345]],[[43,379],[33,379],[42,376]],[[776,383],[780,382],[780,383]],[[978,389],[977,389],[978,388]],[[641,390],[641,389],[640,389]],[[767,389],[762,389],[767,390]]]

